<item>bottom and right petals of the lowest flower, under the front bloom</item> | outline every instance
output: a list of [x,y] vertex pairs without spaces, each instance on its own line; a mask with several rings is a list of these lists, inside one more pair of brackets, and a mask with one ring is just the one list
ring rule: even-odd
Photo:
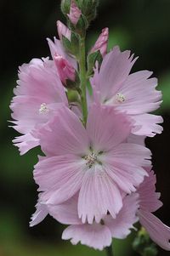
[[111,215],[105,215],[101,223],[70,225],[64,230],[62,239],[71,239],[72,244],[81,242],[88,247],[103,250],[104,247],[111,245],[112,238],[123,239],[130,234],[133,224],[138,221],[136,217],[138,207],[137,195],[126,196],[116,219]]

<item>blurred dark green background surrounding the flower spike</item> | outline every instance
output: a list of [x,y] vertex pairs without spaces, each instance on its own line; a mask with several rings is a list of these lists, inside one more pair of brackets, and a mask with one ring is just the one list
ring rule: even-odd
[[[18,66],[33,57],[49,55],[46,37],[56,36],[56,20],[63,20],[58,0],[0,1],[1,28],[1,171],[0,171],[0,256],[102,256],[81,245],[72,246],[60,239],[64,227],[48,217],[29,228],[28,222],[37,202],[37,186],[32,179],[37,150],[20,156],[11,140],[17,133],[8,128],[9,102],[17,79]],[[64,21],[64,20],[63,20]],[[99,15],[88,32],[88,47],[101,29],[110,28],[109,47],[119,44],[131,49],[139,60],[133,71],[148,69],[159,78],[163,91],[161,115],[164,133],[148,139],[157,174],[157,190],[164,206],[156,213],[170,225],[170,1],[100,0]],[[133,235],[113,242],[115,256],[135,256]],[[170,255],[159,249],[159,256]]]

